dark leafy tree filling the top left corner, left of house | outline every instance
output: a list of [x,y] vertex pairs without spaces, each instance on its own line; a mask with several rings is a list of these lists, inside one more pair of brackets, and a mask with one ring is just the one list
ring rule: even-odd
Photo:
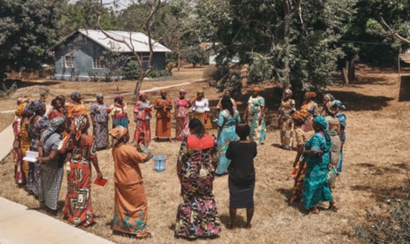
[[0,0],[0,81],[8,68],[33,71],[52,63],[62,0]]

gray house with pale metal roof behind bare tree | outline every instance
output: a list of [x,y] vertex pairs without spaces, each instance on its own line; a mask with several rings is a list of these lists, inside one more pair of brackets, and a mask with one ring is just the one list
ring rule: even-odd
[[[144,68],[148,66],[148,37],[140,32],[107,31],[117,39],[127,41],[134,46]],[[131,37],[131,38],[130,38]],[[165,69],[165,53],[168,48],[152,40],[154,70]],[[104,77],[110,70],[105,67],[103,50],[114,50],[135,59],[129,48],[121,42],[107,38],[100,30],[78,30],[65,37],[54,46],[56,58],[55,74],[57,80],[90,81]]]

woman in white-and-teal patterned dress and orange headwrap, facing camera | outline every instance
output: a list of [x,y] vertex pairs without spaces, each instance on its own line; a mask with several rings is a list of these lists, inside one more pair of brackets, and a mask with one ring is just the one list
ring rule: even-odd
[[259,87],[253,88],[252,96],[247,102],[244,119],[248,121],[250,127],[250,139],[264,144],[266,139],[265,99],[259,96],[259,92]]

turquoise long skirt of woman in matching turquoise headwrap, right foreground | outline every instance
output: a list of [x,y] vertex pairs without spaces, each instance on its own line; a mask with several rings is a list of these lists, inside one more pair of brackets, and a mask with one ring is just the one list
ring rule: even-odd
[[306,208],[333,201],[328,183],[328,165],[314,165],[312,168],[306,168],[302,201]]

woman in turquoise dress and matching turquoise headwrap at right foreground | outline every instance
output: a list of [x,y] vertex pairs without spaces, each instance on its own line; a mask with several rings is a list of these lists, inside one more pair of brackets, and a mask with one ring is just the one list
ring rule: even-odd
[[329,209],[336,211],[336,203],[328,183],[330,165],[330,134],[323,116],[313,120],[315,134],[305,143],[306,175],[303,186],[303,204],[311,213],[319,213],[317,204],[329,201]]

